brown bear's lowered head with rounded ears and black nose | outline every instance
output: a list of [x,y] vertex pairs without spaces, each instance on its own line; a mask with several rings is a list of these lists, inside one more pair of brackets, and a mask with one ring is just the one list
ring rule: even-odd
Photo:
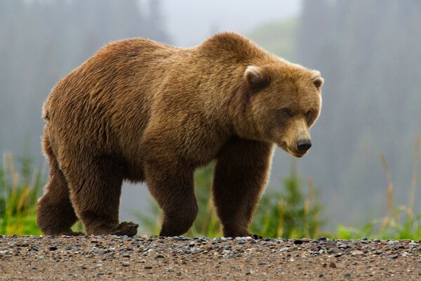
[[249,65],[243,79],[248,89],[247,119],[258,138],[295,157],[305,155],[312,146],[309,128],[321,110],[320,72],[281,61]]

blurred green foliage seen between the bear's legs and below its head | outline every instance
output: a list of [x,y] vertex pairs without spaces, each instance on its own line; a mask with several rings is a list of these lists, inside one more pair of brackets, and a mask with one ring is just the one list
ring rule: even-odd
[[[219,237],[222,235],[213,200],[210,195],[213,165],[199,169],[194,176],[195,192],[199,204],[199,214],[194,225],[185,235],[191,237]],[[264,237],[315,237],[323,225],[320,219],[321,206],[316,201],[312,184],[309,184],[310,196],[306,198],[295,168],[284,181],[284,192],[267,190],[262,196],[250,229]],[[158,234],[162,213],[157,204],[149,202],[152,216],[135,214],[146,233]]]

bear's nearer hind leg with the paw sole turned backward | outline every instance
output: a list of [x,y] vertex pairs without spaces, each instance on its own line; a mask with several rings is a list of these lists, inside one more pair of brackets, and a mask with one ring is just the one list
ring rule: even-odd
[[127,235],[138,233],[138,225],[119,223],[119,202],[123,171],[109,157],[91,163],[73,163],[65,172],[70,197],[88,235]]

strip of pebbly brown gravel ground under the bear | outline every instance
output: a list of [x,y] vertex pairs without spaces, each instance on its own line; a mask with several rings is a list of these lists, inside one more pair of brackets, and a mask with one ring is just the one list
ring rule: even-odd
[[421,280],[411,240],[1,236],[0,280]]

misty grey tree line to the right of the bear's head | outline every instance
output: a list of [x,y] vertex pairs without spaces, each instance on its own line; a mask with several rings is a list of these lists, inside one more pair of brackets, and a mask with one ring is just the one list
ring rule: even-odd
[[399,187],[396,203],[408,200],[421,131],[420,30],[417,0],[304,1],[297,57],[326,79],[316,149],[304,166],[325,185],[323,197],[338,217],[385,214],[380,152]]

